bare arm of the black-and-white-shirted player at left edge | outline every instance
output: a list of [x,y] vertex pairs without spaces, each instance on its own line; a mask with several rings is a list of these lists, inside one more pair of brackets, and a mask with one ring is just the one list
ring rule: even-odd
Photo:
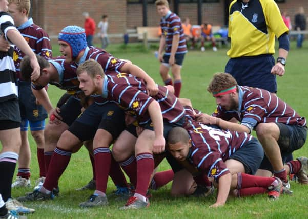
[[22,50],[23,53],[30,57],[30,64],[33,69],[33,72],[31,74],[31,80],[35,81],[40,75],[40,67],[38,65],[37,58],[34,52],[17,29],[9,29],[6,35],[9,41],[11,41],[15,46]]

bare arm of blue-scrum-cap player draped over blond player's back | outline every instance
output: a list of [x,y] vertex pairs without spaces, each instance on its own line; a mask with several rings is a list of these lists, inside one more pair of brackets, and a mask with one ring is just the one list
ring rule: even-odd
[[145,80],[145,82],[147,83],[147,90],[150,96],[155,96],[158,93],[158,87],[156,86],[155,81],[140,67],[133,65],[133,64],[125,63],[121,67],[121,71],[127,72],[129,74],[132,74],[136,77],[139,77]]

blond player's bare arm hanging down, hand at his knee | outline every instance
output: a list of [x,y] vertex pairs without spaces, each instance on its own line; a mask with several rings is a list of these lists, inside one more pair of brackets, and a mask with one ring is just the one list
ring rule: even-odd
[[163,118],[157,101],[152,101],[148,107],[152,123],[154,125],[155,140],[153,153],[160,154],[165,151],[165,138],[163,137]]

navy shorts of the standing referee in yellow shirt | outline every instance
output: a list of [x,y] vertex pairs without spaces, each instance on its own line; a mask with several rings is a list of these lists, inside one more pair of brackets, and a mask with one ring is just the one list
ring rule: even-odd
[[271,74],[275,65],[273,55],[230,58],[224,72],[231,74],[240,86],[257,87],[277,92],[276,75]]

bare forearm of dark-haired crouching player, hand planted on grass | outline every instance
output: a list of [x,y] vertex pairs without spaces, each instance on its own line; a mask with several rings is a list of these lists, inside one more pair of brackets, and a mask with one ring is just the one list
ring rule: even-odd
[[227,173],[219,177],[217,199],[216,202],[210,206],[211,208],[216,208],[225,204],[230,192],[231,178],[231,173]]

